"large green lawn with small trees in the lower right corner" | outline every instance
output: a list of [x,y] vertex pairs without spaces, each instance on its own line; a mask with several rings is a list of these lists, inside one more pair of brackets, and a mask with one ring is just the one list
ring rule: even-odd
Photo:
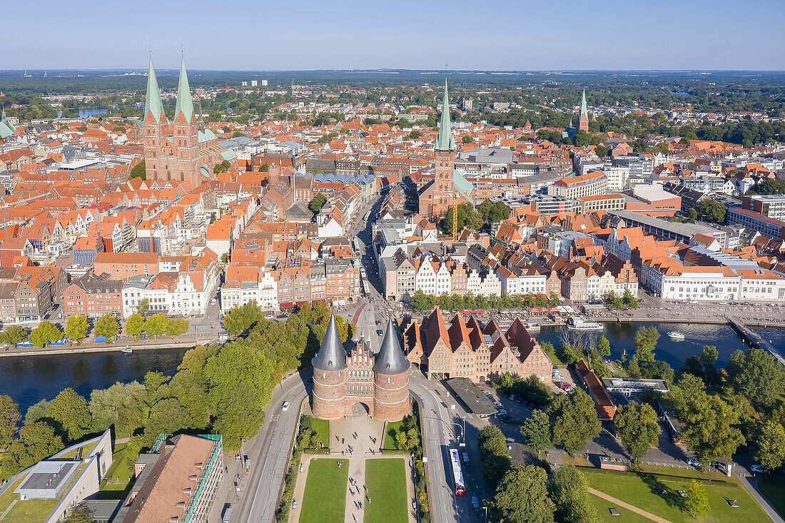
[[[703,481],[711,507],[710,514],[703,521],[716,523],[771,521],[743,486],[733,481],[732,478],[727,481],[729,478],[720,474],[702,475],[697,471],[682,471],[681,469],[667,470],[666,472],[659,470],[659,474],[649,471],[619,472],[588,468],[581,469],[581,471],[586,474],[591,487],[674,523],[695,521],[695,518],[681,510],[681,496],[676,491],[685,490],[689,482],[692,481],[692,477],[696,476],[712,480]],[[663,489],[667,489],[669,492],[666,496],[660,494]],[[728,505],[728,499],[736,499],[739,502],[739,507],[733,508]],[[615,518],[613,519],[615,521]]]

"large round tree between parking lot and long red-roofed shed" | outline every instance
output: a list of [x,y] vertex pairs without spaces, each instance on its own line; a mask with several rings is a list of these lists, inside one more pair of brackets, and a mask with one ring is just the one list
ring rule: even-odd
[[570,394],[557,394],[547,410],[553,426],[553,443],[574,454],[600,435],[594,400],[581,389]]

